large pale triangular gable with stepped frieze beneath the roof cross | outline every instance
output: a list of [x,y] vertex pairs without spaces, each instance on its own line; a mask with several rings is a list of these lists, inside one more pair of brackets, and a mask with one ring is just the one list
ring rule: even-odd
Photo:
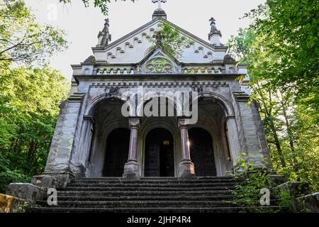
[[[140,62],[151,48],[151,43],[147,38],[152,37],[158,30],[162,18],[157,18],[145,24],[136,31],[125,35],[123,38],[109,44],[106,48],[93,48],[97,62],[107,62],[108,64],[134,64]],[[169,21],[166,21],[169,23]],[[173,23],[172,26],[177,27]],[[178,27],[177,27],[178,28]],[[195,35],[179,28],[183,35],[194,41],[184,50],[180,62],[184,63],[211,63],[213,61],[223,61],[227,48],[216,48]]]

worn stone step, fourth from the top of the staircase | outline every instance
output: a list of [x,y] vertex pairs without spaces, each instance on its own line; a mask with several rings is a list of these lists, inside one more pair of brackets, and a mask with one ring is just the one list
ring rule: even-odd
[[211,196],[211,195],[230,195],[230,190],[211,190],[211,191],[58,191],[57,196]]

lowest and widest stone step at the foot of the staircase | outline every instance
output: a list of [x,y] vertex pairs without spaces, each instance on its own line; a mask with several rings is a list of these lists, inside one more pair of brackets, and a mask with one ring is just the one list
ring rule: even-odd
[[184,208],[184,207],[164,207],[164,208],[62,208],[62,207],[41,207],[30,209],[33,213],[242,213],[256,211],[287,211],[282,206],[257,206],[257,207],[210,207],[210,208]]

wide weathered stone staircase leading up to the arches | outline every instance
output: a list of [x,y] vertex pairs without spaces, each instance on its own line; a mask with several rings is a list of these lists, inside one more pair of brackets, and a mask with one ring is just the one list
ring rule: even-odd
[[[237,213],[254,208],[232,203],[231,177],[143,177],[127,181],[116,177],[75,180],[57,189],[57,206],[38,201],[32,212],[108,213]],[[281,209],[276,206],[262,209]]]

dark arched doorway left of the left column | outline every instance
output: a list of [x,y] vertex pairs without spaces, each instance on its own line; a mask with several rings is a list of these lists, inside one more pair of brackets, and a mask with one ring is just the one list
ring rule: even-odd
[[108,135],[103,168],[104,177],[121,177],[128,160],[130,130],[118,128]]

